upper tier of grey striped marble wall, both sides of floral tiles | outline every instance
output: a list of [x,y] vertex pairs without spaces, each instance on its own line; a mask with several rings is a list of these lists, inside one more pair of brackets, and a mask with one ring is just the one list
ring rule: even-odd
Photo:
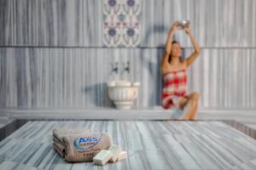
[[[0,45],[102,47],[102,0],[1,0]],[[256,47],[254,0],[142,0],[142,47],[163,47],[175,20],[190,20],[203,47]],[[177,34],[184,46],[187,37]]]

